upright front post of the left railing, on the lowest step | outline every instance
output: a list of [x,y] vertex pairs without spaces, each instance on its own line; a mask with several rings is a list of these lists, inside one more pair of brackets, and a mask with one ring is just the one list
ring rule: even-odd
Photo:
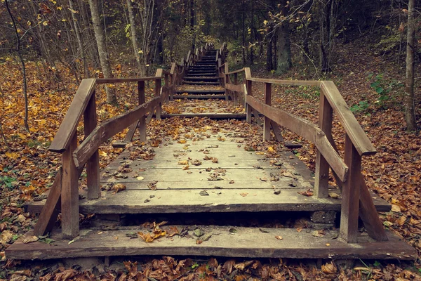
[[[62,154],[62,235],[69,239],[73,239],[79,235],[79,178],[72,159],[72,152],[76,147],[77,135],[75,133],[69,143],[69,147]],[[86,158],[85,163],[92,155],[93,153]]]

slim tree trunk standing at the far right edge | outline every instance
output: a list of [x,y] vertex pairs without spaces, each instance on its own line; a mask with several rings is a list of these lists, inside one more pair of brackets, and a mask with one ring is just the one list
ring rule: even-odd
[[414,0],[408,0],[408,39],[406,43],[405,120],[408,131],[417,129],[414,103]]

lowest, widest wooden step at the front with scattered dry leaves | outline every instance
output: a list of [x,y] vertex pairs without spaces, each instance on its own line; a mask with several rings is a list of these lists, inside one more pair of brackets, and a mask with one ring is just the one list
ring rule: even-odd
[[[204,234],[194,235],[199,228]],[[161,226],[166,233],[184,230],[183,237],[163,237],[145,242],[138,233],[150,228],[117,230],[82,229],[76,239],[62,239],[55,230],[51,244],[32,242],[29,231],[6,249],[6,259],[62,259],[93,256],[226,256],[241,258],[293,259],[399,259],[415,260],[417,251],[400,237],[387,231],[389,241],[376,242],[365,233],[358,242],[348,244],[337,239],[338,230],[326,230],[322,237],[313,230],[298,232],[291,228],[245,228],[239,226]],[[197,231],[196,231],[197,233]],[[188,236],[187,236],[187,235]],[[168,234],[167,234],[168,235]],[[131,238],[131,237],[134,237]]]

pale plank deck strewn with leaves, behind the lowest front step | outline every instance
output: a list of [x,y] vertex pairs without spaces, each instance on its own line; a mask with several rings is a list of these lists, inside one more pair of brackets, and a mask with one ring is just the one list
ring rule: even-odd
[[[313,178],[292,152],[282,151],[281,157],[271,162],[265,152],[246,151],[239,142],[243,138],[233,133],[186,143],[168,141],[154,148],[152,160],[142,159],[143,148],[131,147],[107,166],[101,178],[103,188],[120,183],[126,190],[116,194],[113,190],[102,191],[99,200],[79,200],[79,211],[82,214],[340,211],[340,198],[319,199],[299,194],[313,187]],[[121,167],[131,171],[121,173]],[[81,195],[85,193],[81,191]],[[385,200],[376,196],[373,199],[377,211],[390,210]],[[27,211],[39,213],[44,203],[45,200],[31,202]]]

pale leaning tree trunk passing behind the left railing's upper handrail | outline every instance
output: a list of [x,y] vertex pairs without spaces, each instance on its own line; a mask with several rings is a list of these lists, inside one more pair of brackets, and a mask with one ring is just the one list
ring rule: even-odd
[[[93,22],[93,31],[95,32],[95,39],[98,46],[98,54],[100,55],[100,63],[102,73],[105,78],[112,78],[111,67],[109,65],[107,48],[105,46],[104,30],[102,30],[100,21],[100,12],[98,11],[98,3],[96,0],[89,0],[89,7],[91,8],[91,17]],[[114,89],[105,86],[107,92],[107,103],[116,103],[116,95]]]

